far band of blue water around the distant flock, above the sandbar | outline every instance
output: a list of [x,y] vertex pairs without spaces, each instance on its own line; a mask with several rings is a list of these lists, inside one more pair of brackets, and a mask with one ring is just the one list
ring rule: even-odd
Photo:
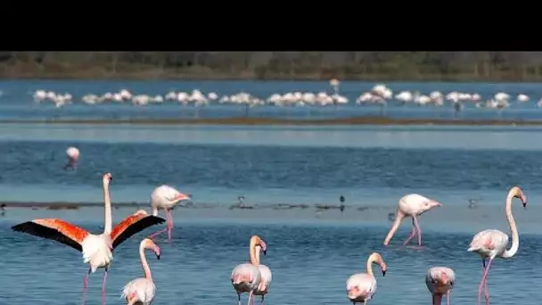
[[[275,107],[263,106],[250,108],[251,117],[273,117],[291,119],[344,118],[352,116],[381,115],[378,105],[355,104],[357,96],[370,90],[374,83],[345,81],[341,84],[341,95],[349,98],[350,103],[338,107]],[[429,94],[439,90],[443,94],[451,91],[478,93],[483,100],[498,92],[505,92],[512,97],[512,106],[499,114],[496,110],[478,109],[473,103],[464,103],[465,109],[459,115],[463,119],[505,119],[505,120],[540,120],[542,111],[536,102],[542,97],[542,87],[538,83],[412,83],[392,82],[387,84],[395,94],[400,91],[419,91]],[[320,92],[332,93],[327,82],[288,82],[288,81],[44,81],[13,80],[0,81],[0,120],[30,119],[164,119],[164,118],[226,118],[245,115],[245,107],[227,104],[211,104],[207,107],[182,107],[179,103],[149,104],[135,107],[131,103],[103,103],[87,105],[80,99],[86,94],[103,95],[105,92],[119,92],[126,88],[134,94],[166,95],[170,90],[192,92],[200,89],[203,93],[215,92],[221,95],[234,95],[241,91],[267,99],[274,93]],[[62,108],[55,108],[53,103],[34,103],[32,93],[38,89],[52,90],[58,93],[70,93],[76,101]],[[530,102],[515,103],[518,94],[530,95]],[[450,104],[443,107],[398,105],[390,103],[386,116],[392,118],[454,118]]]

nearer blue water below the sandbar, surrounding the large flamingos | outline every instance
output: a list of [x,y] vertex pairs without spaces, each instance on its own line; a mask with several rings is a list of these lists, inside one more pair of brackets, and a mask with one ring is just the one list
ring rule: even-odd
[[[79,84],[81,92],[96,86],[49,84],[53,90]],[[142,90],[144,86],[169,89],[168,84],[141,84]],[[108,90],[127,86],[102,85],[111,86]],[[481,93],[484,86],[478,86]],[[514,86],[526,94],[535,87]],[[5,87],[1,89],[9,94]],[[520,250],[511,260],[495,262],[489,291],[493,304],[538,304],[536,283],[542,271],[538,265],[542,260],[538,251],[542,238],[539,133],[540,128],[520,127],[0,124],[0,201],[96,202],[95,207],[79,210],[9,207],[2,214],[0,291],[4,298],[0,303],[79,304],[86,272],[80,254],[59,243],[13,233],[9,227],[33,218],[58,217],[99,232],[103,227],[100,177],[111,171],[113,205],[139,202],[148,209],[149,194],[163,183],[193,194],[193,207],[173,212],[174,243],[164,243],[162,236],[160,261],[149,255],[158,289],[156,304],[235,304],[229,275],[235,265],[248,260],[247,243],[253,234],[268,245],[263,262],[274,275],[268,304],[348,303],[346,279],[365,272],[365,260],[372,251],[381,252],[389,267],[385,277],[376,273],[379,288],[372,303],[431,303],[424,275],[437,265],[456,270],[452,303],[474,303],[481,263],[466,248],[472,235],[482,229],[509,232],[503,204],[512,185],[521,185],[530,202],[528,210],[520,204],[513,209],[521,232]],[[69,145],[81,151],[76,171],[62,169]],[[410,230],[408,222],[392,245],[383,248],[390,226],[388,213],[408,193],[443,203],[420,218],[426,248],[398,247]],[[316,210],[317,203],[338,204],[341,194],[347,205],[343,214]],[[230,210],[238,195],[256,209]],[[469,199],[478,202],[476,209],[468,208]],[[308,208],[275,210],[276,203],[306,203]],[[113,210],[114,221],[135,209]],[[122,303],[118,299],[122,286],[142,276],[138,243],[158,228],[148,229],[115,251],[108,277],[109,304]],[[102,271],[91,276],[87,304],[100,302],[101,284]]]

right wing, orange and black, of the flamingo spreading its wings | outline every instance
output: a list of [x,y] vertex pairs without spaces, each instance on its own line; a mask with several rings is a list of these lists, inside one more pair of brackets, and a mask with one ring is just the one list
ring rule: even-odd
[[166,222],[166,219],[147,214],[144,210],[138,210],[136,213],[124,218],[120,223],[113,227],[111,231],[111,242],[113,249],[120,243],[126,241],[130,236],[143,231],[147,227]]

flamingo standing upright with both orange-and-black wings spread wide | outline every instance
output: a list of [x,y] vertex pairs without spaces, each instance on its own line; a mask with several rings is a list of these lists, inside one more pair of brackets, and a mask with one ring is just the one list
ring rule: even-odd
[[105,282],[107,271],[113,260],[113,250],[137,232],[166,221],[164,218],[150,216],[144,210],[138,210],[136,213],[122,220],[116,227],[112,227],[111,199],[109,194],[111,179],[111,173],[103,175],[105,221],[103,234],[101,235],[90,234],[85,229],[59,218],[34,219],[12,227],[13,231],[52,239],[83,253],[83,262],[88,263],[90,267],[83,281],[83,305],[85,304],[88,276],[90,273],[94,273],[98,268],[104,268],[102,303],[105,304]]

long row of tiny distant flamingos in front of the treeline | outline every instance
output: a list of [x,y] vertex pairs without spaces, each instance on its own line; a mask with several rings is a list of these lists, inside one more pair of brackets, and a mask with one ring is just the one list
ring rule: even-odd
[[[275,106],[328,106],[337,104],[349,103],[349,98],[340,95],[340,82],[337,79],[332,79],[330,85],[333,88],[333,93],[328,93],[325,90],[319,93],[302,93],[288,92],[283,95],[274,94],[267,99],[260,98],[255,95],[250,95],[241,92],[235,95],[218,96],[214,92],[207,95],[195,89],[192,93],[171,91],[167,95],[134,95],[127,89],[122,89],[117,93],[107,92],[103,95],[84,95],[81,101],[86,104],[100,103],[133,103],[137,106],[143,106],[152,103],[177,102],[183,105],[191,104],[193,106],[205,106],[209,103],[226,103],[245,106],[259,105],[275,105]],[[55,93],[53,91],[37,90],[33,93],[34,101],[37,103],[50,102],[56,107],[73,103],[73,96],[70,94]],[[515,97],[504,92],[499,92],[489,100],[482,100],[482,97],[477,93],[461,93],[450,92],[444,95],[439,91],[433,91],[427,95],[420,92],[402,91],[397,95],[389,87],[378,84],[368,92],[362,93],[357,97],[357,104],[380,104],[382,106],[389,102],[400,104],[416,104],[416,105],[435,105],[442,106],[445,102],[451,103],[456,110],[463,109],[464,103],[472,103],[477,108],[491,108],[502,110],[510,106],[515,101],[517,103],[527,103],[530,101],[528,95],[520,94]],[[542,99],[537,102],[538,107],[542,107]]]

